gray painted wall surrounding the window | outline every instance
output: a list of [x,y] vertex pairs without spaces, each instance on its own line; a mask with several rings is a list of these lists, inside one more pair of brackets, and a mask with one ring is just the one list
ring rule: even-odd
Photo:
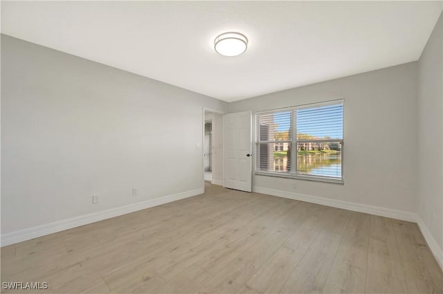
[[233,102],[229,110],[344,98],[345,185],[253,175],[253,186],[416,212],[416,93],[417,62],[412,62]]

